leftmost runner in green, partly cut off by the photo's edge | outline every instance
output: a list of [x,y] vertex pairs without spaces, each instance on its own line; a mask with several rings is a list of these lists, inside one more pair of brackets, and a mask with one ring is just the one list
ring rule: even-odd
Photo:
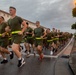
[[0,53],[3,57],[1,64],[8,62],[5,54],[10,54],[10,59],[12,59],[13,52],[7,50],[8,46],[8,33],[6,32],[7,24],[4,22],[4,17],[0,16]]

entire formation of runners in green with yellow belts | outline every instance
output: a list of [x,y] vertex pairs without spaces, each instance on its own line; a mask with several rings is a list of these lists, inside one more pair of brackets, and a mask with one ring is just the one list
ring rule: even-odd
[[[21,17],[16,16],[16,8],[9,7],[9,13],[11,18],[5,22],[4,17],[0,16],[0,54],[3,57],[1,64],[8,62],[6,54],[9,54],[10,59],[13,59],[14,54],[18,58],[18,67],[25,64],[24,58],[21,55],[20,43],[24,40],[26,57],[30,56],[31,48],[34,56],[36,51],[39,54],[39,60],[44,58],[43,47],[50,50],[50,54],[53,55],[58,51],[58,48],[63,46],[68,39],[72,37],[72,34],[68,32],[61,32],[53,28],[46,30],[40,26],[40,22],[36,21],[36,28],[33,30],[29,26],[29,22],[24,21]],[[12,48],[9,51],[7,46]]]

